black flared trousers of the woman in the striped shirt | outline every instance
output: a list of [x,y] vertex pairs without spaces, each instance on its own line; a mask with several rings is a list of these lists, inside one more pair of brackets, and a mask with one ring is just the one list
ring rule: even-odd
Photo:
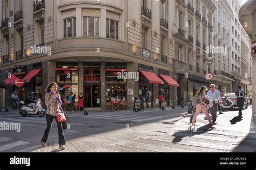
[[46,143],[46,140],[48,139],[48,136],[49,136],[49,132],[51,130],[53,118],[55,119],[57,126],[58,126],[59,145],[65,145],[65,136],[64,136],[63,129],[62,129],[62,123],[57,121],[57,116],[52,116],[49,114],[46,114],[47,128],[44,131],[44,136],[41,141]]

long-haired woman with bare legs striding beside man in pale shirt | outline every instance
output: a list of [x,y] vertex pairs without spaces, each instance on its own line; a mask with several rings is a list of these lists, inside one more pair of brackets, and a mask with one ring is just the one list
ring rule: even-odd
[[206,106],[208,106],[207,103],[205,103],[205,100],[206,100],[206,96],[205,96],[205,93],[206,93],[206,87],[203,86],[200,88],[200,90],[198,91],[198,101],[197,101],[197,108],[196,108],[196,113],[194,114],[193,116],[193,119],[192,119],[192,125],[194,126],[194,122],[196,121],[197,119],[197,116],[199,115],[199,113],[201,111],[204,112],[208,122],[210,123],[211,126],[215,125],[216,123],[212,123],[211,121],[211,118],[208,114],[208,111],[206,109]]

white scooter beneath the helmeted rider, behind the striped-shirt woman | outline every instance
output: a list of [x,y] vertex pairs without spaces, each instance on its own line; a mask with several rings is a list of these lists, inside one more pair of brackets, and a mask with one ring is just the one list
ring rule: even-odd
[[25,104],[24,101],[19,102],[19,104],[22,105],[22,108],[19,109],[19,114],[21,114],[21,116],[39,115],[40,117],[43,117],[46,114],[46,111],[42,108],[40,98],[37,100],[35,111],[33,111],[32,107]]

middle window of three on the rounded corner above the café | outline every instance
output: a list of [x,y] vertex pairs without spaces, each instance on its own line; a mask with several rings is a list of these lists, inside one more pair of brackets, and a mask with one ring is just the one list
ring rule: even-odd
[[83,18],[84,36],[99,37],[99,17]]

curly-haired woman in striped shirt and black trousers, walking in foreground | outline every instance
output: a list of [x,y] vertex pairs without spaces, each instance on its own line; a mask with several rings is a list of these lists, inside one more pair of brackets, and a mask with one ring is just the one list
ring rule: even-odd
[[44,136],[41,140],[42,146],[46,146],[46,140],[48,139],[49,132],[51,130],[52,121],[55,119],[58,127],[58,136],[59,136],[59,148],[64,150],[65,147],[65,136],[62,128],[62,122],[57,121],[57,113],[64,114],[62,110],[61,104],[62,101],[60,100],[60,95],[58,94],[58,84],[55,82],[51,82],[48,84],[45,92],[45,105],[47,107],[46,110],[46,122],[47,128],[44,131]]

